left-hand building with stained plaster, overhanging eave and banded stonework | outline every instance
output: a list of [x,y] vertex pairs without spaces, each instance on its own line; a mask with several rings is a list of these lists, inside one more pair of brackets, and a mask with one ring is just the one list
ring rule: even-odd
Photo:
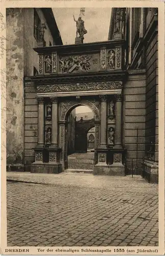
[[38,103],[24,78],[38,74],[38,54],[33,48],[38,46],[42,23],[46,27],[45,46],[62,45],[51,8],[6,9],[7,167],[11,170],[23,170],[31,163],[37,142]]

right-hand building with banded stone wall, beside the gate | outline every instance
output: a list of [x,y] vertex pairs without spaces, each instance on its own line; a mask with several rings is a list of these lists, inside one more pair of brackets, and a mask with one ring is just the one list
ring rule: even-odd
[[116,38],[116,30],[119,38],[126,41],[124,58],[126,70],[130,74],[123,89],[123,143],[127,147],[127,162],[135,158],[137,151],[138,160],[143,163],[143,176],[151,182],[157,182],[157,8],[112,8],[109,40]]

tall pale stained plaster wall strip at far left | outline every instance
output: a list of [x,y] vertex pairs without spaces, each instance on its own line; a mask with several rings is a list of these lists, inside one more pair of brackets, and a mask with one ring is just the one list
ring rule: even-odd
[[24,10],[6,9],[7,166],[23,168],[23,36]]

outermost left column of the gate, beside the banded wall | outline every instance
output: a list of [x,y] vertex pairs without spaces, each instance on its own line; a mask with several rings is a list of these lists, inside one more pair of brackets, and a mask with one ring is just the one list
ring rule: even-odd
[[38,100],[38,145],[44,144],[44,100]]

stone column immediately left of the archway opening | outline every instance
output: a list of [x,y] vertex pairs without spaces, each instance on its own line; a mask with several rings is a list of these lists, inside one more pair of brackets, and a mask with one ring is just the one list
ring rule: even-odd
[[51,98],[52,101],[52,146],[58,147],[58,100]]

